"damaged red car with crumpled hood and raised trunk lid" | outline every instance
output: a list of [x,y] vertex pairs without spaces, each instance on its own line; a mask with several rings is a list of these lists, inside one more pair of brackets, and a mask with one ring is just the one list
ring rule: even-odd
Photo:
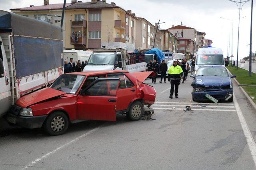
[[52,86],[17,100],[7,121],[61,135],[80,120],[116,121],[126,113],[132,121],[154,104],[156,90],[143,81],[151,72],[93,71],[62,74]]

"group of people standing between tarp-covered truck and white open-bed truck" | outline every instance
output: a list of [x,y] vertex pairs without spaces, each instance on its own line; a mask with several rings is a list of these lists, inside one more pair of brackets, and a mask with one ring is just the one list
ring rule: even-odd
[[87,61],[81,61],[78,60],[78,62],[75,64],[73,62],[73,58],[70,58],[70,62],[64,61],[64,73],[69,73],[69,72],[81,72],[84,70],[84,67],[86,66]]

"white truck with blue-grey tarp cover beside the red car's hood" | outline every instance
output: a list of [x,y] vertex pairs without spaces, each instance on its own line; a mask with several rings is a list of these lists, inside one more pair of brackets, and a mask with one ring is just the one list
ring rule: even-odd
[[61,27],[0,10],[0,117],[62,74]]

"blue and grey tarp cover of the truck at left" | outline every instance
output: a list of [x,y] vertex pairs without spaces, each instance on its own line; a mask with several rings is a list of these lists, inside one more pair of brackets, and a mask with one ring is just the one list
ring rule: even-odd
[[0,10],[0,32],[14,35],[17,78],[63,66],[61,27]]

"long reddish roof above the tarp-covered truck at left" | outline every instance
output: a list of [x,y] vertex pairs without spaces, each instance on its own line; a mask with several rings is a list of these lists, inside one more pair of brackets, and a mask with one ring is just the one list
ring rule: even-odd
[[[70,6],[71,3],[66,3],[66,7]],[[41,5],[41,6],[31,6],[31,7],[25,7],[25,8],[13,8],[10,10],[56,10],[56,9],[62,9],[63,4],[49,4],[49,5]]]

